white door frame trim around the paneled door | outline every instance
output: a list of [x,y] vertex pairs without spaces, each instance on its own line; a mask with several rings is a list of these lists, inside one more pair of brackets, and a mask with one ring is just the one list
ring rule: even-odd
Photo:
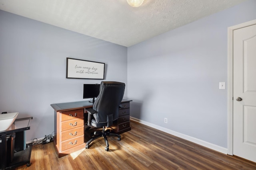
[[228,154],[233,155],[233,35],[235,29],[256,24],[256,20],[228,27]]

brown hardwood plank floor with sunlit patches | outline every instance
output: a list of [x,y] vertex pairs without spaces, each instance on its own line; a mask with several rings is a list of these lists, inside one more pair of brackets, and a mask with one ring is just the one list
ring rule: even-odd
[[54,143],[32,148],[30,167],[16,170],[256,170],[256,163],[214,150],[131,121],[132,130],[121,141],[108,137],[62,158]]

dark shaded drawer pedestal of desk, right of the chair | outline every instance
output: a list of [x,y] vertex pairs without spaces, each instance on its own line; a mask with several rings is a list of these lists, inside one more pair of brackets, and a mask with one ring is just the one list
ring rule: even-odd
[[120,104],[122,107],[119,107],[118,119],[113,122],[113,125],[110,127],[114,133],[124,133],[130,131],[130,101],[122,102]]

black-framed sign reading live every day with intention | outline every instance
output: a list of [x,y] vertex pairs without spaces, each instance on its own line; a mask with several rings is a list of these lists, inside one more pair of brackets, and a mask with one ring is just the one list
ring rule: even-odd
[[105,63],[67,58],[66,78],[104,79]]

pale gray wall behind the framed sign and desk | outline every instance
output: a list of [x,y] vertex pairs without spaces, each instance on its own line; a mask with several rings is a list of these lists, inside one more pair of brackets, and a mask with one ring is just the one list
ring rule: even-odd
[[0,10],[0,112],[33,117],[27,141],[54,131],[50,104],[83,101],[83,84],[102,81],[66,79],[66,57],[106,63],[105,80],[127,84],[127,47]]

